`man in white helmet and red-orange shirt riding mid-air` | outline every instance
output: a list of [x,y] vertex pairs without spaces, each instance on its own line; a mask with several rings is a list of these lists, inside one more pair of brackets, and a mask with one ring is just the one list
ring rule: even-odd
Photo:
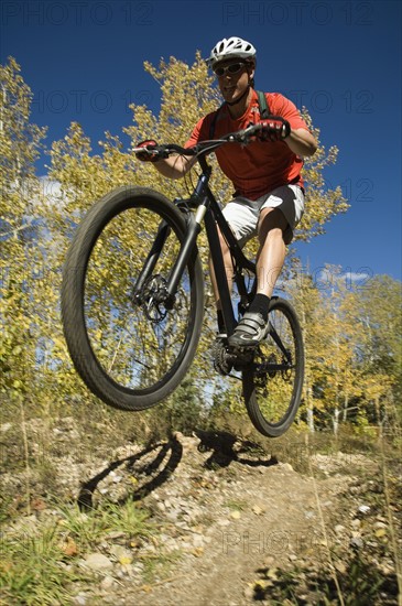
[[[303,156],[313,155],[317,142],[292,101],[280,94],[265,94],[270,117],[263,120],[258,95],[253,88],[256,48],[240,37],[224,39],[213,48],[208,65],[218,78],[224,105],[205,118],[193,130],[185,147],[247,128],[263,121],[265,129],[259,140],[248,145],[230,144],[216,150],[222,172],[235,186],[235,197],[224,214],[241,245],[258,235],[258,289],[254,300],[229,337],[230,347],[252,347],[268,331],[268,310],[276,279],[282,270],[286,245],[304,212],[304,190],[301,170]],[[150,141],[144,141],[143,145]],[[141,145],[140,144],[140,145]],[[149,154],[138,154],[152,160]],[[178,178],[193,166],[192,156],[170,156],[157,160],[156,169],[165,176]],[[227,279],[232,283],[231,257],[220,238]],[[211,268],[218,328],[225,331],[219,293]]]

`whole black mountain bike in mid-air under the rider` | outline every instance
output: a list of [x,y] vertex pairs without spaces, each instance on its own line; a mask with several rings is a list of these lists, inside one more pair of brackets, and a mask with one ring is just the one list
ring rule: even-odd
[[[153,407],[189,369],[204,317],[197,247],[204,225],[226,326],[226,336],[211,346],[215,369],[241,380],[248,414],[260,433],[279,436],[293,422],[304,376],[296,313],[286,299],[273,296],[264,340],[252,349],[230,349],[227,337],[256,294],[256,262],[243,253],[208,184],[207,155],[222,144],[248,144],[261,128],[254,125],[191,149],[153,147],[161,158],[195,156],[200,174],[189,197],[172,202],[149,187],[122,186],[97,202],[79,225],[63,271],[64,334],[77,372],[107,404],[129,411]],[[217,227],[231,251],[237,309]]]

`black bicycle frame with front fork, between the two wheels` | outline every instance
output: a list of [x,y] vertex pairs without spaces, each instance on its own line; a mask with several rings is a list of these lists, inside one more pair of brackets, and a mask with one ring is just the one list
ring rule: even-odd
[[[233,236],[225,216],[216,201],[213,192],[209,188],[208,182],[211,173],[210,166],[207,164],[204,156],[198,159],[198,162],[203,169],[202,174],[198,176],[197,184],[189,198],[175,199],[176,206],[185,214],[187,230],[185,239],[182,242],[181,251],[173,266],[171,274],[166,283],[166,292],[164,296],[164,305],[166,309],[172,309],[174,305],[175,294],[181,281],[182,274],[187,266],[191,255],[196,248],[197,237],[202,229],[202,223],[204,220],[207,239],[209,244],[209,251],[215,269],[216,282],[218,286],[221,311],[224,322],[227,331],[227,335],[230,336],[236,327],[236,317],[233,313],[231,293],[226,279],[226,269],[224,264],[224,257],[219,242],[218,228],[219,227],[224,238],[226,239],[232,261],[233,261],[233,280],[237,284],[240,301],[243,307],[250,302],[253,296],[253,290],[251,293],[246,288],[245,277],[242,270],[247,270],[256,275],[256,263],[248,260],[243,255],[236,237]],[[189,207],[196,207],[196,212],[191,213]],[[133,289],[133,295],[138,296],[141,292],[141,288],[144,281],[152,274],[154,267],[156,266],[159,255],[169,236],[167,225],[162,221],[152,246],[152,249],[146,258],[141,274]],[[256,288],[256,280],[253,289]]]

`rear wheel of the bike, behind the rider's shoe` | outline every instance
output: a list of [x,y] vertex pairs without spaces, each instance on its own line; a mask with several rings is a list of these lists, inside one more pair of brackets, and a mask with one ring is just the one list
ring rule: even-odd
[[292,305],[272,297],[270,331],[242,371],[243,398],[254,428],[268,437],[282,435],[292,424],[304,379],[303,336]]

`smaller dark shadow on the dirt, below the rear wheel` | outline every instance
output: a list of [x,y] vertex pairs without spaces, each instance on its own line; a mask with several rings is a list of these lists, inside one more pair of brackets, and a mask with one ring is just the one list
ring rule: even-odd
[[[239,440],[239,437],[232,433],[225,431],[196,430],[194,434],[199,440],[199,452],[206,453],[211,451],[211,455],[204,463],[204,467],[207,469],[228,467],[232,462],[240,463],[241,465],[249,465],[250,467],[271,467],[279,463],[278,458],[272,455],[270,455],[269,458],[264,458],[267,455],[259,444],[248,440]],[[253,458],[252,456],[246,458],[241,456],[245,453],[249,455],[259,453],[264,456],[262,458],[261,456],[258,458]]]

